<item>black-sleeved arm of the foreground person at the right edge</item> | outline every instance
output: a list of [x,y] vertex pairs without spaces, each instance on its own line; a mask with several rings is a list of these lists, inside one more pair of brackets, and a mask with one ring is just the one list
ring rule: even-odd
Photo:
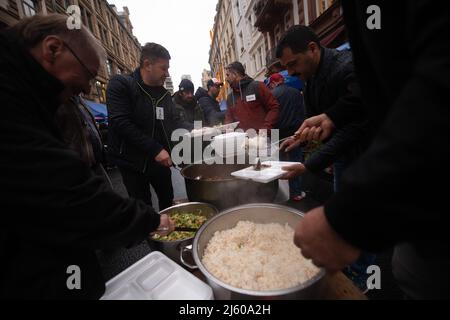
[[[408,3],[413,63],[371,147],[344,175],[325,214],[344,239],[366,250],[402,241],[449,241],[443,204],[450,173],[450,16],[425,1]],[[433,14],[423,21],[422,13]],[[430,250],[432,248],[429,248]]]

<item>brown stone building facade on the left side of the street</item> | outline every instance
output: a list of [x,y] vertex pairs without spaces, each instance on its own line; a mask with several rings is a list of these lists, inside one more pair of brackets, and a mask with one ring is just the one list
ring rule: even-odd
[[141,45],[133,35],[128,8],[119,12],[106,0],[0,0],[0,23],[13,25],[38,13],[66,14],[70,5],[78,5],[83,24],[102,43],[107,59],[97,75],[87,99],[106,102],[106,86],[115,74],[130,73],[138,65]]

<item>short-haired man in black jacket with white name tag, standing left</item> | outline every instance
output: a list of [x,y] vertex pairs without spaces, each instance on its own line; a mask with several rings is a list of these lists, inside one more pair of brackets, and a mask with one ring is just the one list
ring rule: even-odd
[[163,87],[169,60],[164,47],[146,44],[140,67],[131,75],[113,77],[106,92],[109,159],[119,167],[129,196],[152,205],[151,184],[160,210],[173,204],[171,136],[183,127]]

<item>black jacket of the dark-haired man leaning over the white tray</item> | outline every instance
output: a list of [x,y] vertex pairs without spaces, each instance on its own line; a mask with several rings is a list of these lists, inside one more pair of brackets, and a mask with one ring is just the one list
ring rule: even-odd
[[322,48],[318,71],[306,83],[307,118],[327,114],[336,132],[305,166],[319,172],[337,160],[353,161],[367,144],[367,112],[354,72],[352,54]]

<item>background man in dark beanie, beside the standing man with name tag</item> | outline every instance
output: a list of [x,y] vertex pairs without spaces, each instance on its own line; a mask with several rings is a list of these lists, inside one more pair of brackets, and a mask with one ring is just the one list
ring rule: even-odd
[[173,95],[173,104],[178,113],[178,118],[183,123],[182,126],[189,131],[194,129],[194,122],[203,119],[203,110],[194,97],[194,84],[189,79],[181,80],[179,91]]

